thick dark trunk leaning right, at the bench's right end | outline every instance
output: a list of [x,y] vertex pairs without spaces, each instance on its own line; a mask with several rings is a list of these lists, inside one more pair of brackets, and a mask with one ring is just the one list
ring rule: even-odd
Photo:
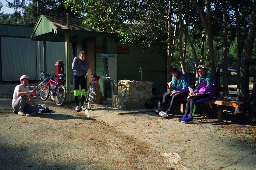
[[[248,38],[245,46],[245,53],[243,57],[243,63],[241,65],[241,99],[249,101],[249,66],[251,62],[252,50],[254,46],[255,32],[256,32],[256,2],[254,2],[251,21],[249,26]],[[248,105],[242,108],[243,113],[247,111]]]

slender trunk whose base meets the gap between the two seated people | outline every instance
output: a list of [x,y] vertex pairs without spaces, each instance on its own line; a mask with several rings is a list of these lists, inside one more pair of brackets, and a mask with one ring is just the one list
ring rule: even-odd
[[183,38],[183,20],[182,20],[182,13],[181,13],[181,0],[177,1],[177,9],[178,9],[178,15],[179,15],[179,37],[178,37],[178,42],[179,42],[179,56],[181,60],[181,70],[182,73],[187,75],[187,70],[185,67],[185,61],[183,58],[183,48],[182,48],[182,38]]

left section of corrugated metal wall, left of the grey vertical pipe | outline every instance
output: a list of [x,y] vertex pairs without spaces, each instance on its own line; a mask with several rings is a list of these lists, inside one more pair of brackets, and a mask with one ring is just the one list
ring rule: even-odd
[[36,73],[36,42],[29,38],[1,37],[3,81]]

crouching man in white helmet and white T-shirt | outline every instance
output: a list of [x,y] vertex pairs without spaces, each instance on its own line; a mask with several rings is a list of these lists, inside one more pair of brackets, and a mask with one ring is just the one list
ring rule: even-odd
[[[15,87],[13,93],[13,102],[12,107],[14,109],[13,113],[19,114],[21,116],[33,116],[39,111],[36,106],[32,95],[35,95],[36,92],[33,90],[29,91],[27,85],[29,81],[29,77],[27,75],[23,75],[20,78],[21,84]],[[26,103],[27,96],[32,105]]]

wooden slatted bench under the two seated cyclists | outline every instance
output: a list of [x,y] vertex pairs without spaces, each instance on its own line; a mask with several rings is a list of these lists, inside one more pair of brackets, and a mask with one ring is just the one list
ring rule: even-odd
[[[181,102],[181,112],[184,114],[186,109],[187,97],[182,97],[178,101]],[[233,100],[225,101],[224,98],[213,97],[210,100],[202,101],[202,103],[210,103],[218,106],[218,121],[223,122],[223,106],[239,107],[247,104],[247,101]]]

